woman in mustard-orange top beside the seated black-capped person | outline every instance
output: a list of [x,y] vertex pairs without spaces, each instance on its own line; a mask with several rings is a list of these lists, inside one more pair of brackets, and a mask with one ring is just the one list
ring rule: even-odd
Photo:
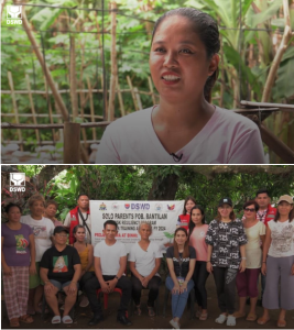
[[[73,230],[76,242],[73,246],[77,250],[80,264],[81,264],[81,273],[79,276],[79,288],[84,290],[85,284],[92,277],[96,277],[94,270],[94,249],[91,244],[86,243],[86,230],[81,224],[77,224]],[[89,305],[89,300],[87,296],[83,296],[81,301],[79,304],[80,307],[87,307]]]

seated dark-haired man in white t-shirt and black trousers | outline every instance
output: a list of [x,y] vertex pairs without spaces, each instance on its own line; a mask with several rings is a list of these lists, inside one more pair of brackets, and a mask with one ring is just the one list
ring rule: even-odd
[[104,223],[105,241],[98,243],[94,249],[94,267],[96,277],[89,279],[85,285],[85,292],[90,302],[94,317],[88,322],[95,326],[104,319],[100,300],[96,290],[101,288],[102,293],[110,294],[116,287],[122,290],[117,321],[123,326],[131,326],[127,317],[128,305],[132,296],[132,284],[123,273],[127,267],[127,251],[124,244],[116,240],[118,224],[113,220]]

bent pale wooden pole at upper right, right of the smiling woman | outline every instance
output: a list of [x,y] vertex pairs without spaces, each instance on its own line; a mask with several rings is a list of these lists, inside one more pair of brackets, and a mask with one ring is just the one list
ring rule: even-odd
[[265,81],[265,86],[264,86],[262,99],[261,99],[262,102],[266,102],[270,99],[280,63],[281,63],[282,57],[287,48],[287,44],[288,44],[291,37],[294,35],[294,33],[292,33],[291,25],[290,25],[288,0],[283,0],[283,9],[284,9],[284,16],[285,16],[284,34],[283,34],[282,42],[277,48],[277,52],[275,53],[274,59],[272,62],[272,65],[271,65],[271,68],[270,68],[270,72],[269,72],[269,75],[268,75],[268,78]]

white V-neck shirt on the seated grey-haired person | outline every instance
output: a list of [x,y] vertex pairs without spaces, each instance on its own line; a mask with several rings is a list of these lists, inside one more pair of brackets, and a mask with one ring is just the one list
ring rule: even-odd
[[[154,270],[155,258],[159,257],[162,257],[162,252],[156,243],[150,242],[148,250],[144,251],[139,243],[135,242],[131,248],[128,260],[135,263],[135,270],[140,275],[148,276]],[[155,275],[160,276],[159,273]]]

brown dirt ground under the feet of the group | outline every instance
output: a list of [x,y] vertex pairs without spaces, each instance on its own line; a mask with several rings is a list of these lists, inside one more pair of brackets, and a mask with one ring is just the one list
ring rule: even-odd
[[[228,328],[226,324],[217,324],[215,322],[216,317],[219,315],[219,309],[217,306],[217,297],[216,297],[216,288],[214,278],[210,275],[208,277],[207,284],[207,293],[208,293],[208,319],[206,321],[199,321],[198,319],[189,319],[189,311],[185,310],[184,316],[181,320],[183,329],[226,329]],[[171,310],[171,298],[168,299],[168,305],[166,308],[166,317],[162,316],[163,312],[163,299],[164,299],[164,284],[161,286],[160,290],[160,312],[159,316],[153,318],[148,316],[146,310],[146,295],[148,290],[143,290],[141,304],[143,307],[143,312],[141,316],[132,315],[130,317],[132,321],[132,326],[128,327],[129,329],[171,329],[168,321],[172,319],[172,310]],[[294,296],[293,296],[294,299]],[[61,324],[51,324],[52,315],[47,315],[43,320],[40,315],[34,316],[34,322],[31,324],[21,323],[20,329],[124,329],[121,323],[117,322],[117,307],[119,305],[119,295],[117,293],[111,294],[109,296],[108,309],[105,310],[105,320],[98,323],[95,327],[89,327],[87,323],[91,318],[90,308],[80,308],[78,307],[75,312],[75,319],[73,324],[65,326]],[[236,305],[238,306],[238,305]],[[249,308],[249,306],[247,306]],[[258,316],[262,314],[262,307],[257,307]],[[237,326],[231,327],[235,329],[275,329],[276,320],[277,320],[277,310],[271,311],[271,320],[264,324],[259,326],[257,322],[246,321],[244,318],[237,320]],[[7,317],[1,316],[1,328],[9,329],[9,321]],[[287,326],[286,329],[294,329],[294,311],[288,311],[286,316]]]

